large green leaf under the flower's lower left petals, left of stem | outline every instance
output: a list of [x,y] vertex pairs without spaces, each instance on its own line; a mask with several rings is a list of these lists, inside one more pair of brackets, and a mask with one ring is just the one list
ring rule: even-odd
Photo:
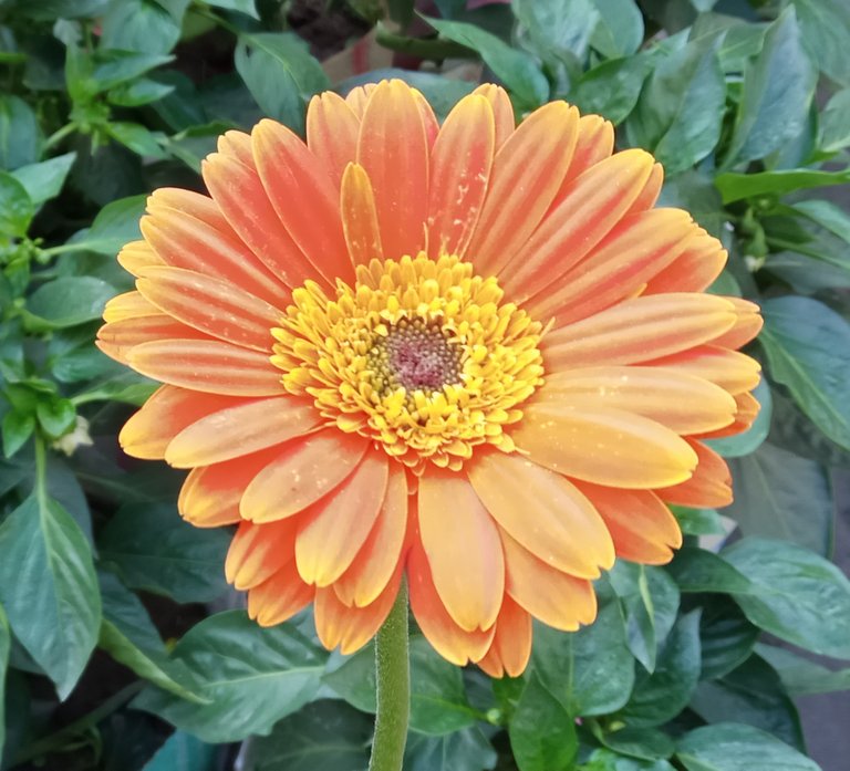
[[204,741],[267,736],[278,720],[315,696],[325,657],[293,624],[263,628],[243,611],[219,613],[191,627],[173,653],[209,704],[148,688],[133,707]]

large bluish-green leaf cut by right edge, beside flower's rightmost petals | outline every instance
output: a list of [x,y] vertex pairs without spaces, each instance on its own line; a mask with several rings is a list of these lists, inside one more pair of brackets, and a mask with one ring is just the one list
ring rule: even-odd
[[767,300],[763,313],[770,375],[823,434],[850,448],[850,324],[809,298]]

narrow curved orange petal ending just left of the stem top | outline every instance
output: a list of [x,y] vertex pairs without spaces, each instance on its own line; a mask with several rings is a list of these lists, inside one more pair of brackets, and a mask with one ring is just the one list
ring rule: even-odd
[[407,478],[397,463],[391,463],[375,525],[352,565],[333,584],[343,604],[364,607],[384,591],[402,556],[407,513]]

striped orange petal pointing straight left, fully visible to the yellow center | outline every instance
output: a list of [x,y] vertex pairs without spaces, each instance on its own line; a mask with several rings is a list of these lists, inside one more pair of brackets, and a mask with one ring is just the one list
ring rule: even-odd
[[228,396],[277,396],[280,371],[269,357],[217,340],[159,340],[129,352],[136,372],[169,385]]

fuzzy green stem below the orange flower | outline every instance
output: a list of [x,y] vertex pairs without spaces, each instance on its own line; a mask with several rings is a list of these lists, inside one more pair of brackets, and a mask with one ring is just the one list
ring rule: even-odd
[[402,771],[411,717],[411,663],[407,640],[407,584],[375,638],[377,715],[369,771]]

